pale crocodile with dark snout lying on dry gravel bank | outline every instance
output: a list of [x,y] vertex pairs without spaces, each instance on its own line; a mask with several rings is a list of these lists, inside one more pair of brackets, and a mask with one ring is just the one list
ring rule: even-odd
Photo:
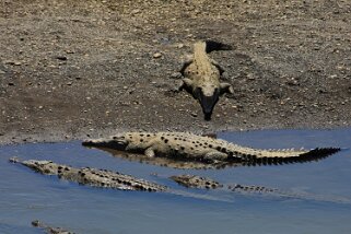
[[208,56],[208,52],[231,49],[232,46],[213,40],[197,42],[194,45],[192,57],[187,58],[180,69],[184,79],[179,91],[185,89],[199,101],[206,120],[211,119],[220,95],[234,93],[230,83],[220,82],[224,70]]

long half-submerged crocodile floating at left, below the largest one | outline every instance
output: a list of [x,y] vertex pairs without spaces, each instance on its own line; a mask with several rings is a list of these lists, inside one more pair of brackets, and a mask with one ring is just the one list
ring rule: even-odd
[[57,164],[52,161],[20,161],[15,157],[10,159],[10,162],[20,163],[45,175],[57,175],[59,178],[75,182],[80,185],[120,190],[163,191],[166,189],[165,186],[107,169],[91,167],[75,168]]

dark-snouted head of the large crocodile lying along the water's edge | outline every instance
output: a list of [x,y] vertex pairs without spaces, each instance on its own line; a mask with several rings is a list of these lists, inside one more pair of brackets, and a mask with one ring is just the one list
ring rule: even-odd
[[124,136],[114,136],[110,138],[102,138],[96,140],[86,140],[82,143],[84,147],[95,147],[95,148],[110,148],[114,150],[126,150],[129,142]]

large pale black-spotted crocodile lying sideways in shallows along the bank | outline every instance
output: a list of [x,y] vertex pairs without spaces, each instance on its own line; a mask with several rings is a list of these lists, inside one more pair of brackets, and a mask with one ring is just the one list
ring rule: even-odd
[[108,138],[85,140],[82,144],[141,153],[149,157],[164,156],[207,164],[231,162],[245,165],[308,162],[340,151],[339,148],[259,150],[190,132],[125,132]]

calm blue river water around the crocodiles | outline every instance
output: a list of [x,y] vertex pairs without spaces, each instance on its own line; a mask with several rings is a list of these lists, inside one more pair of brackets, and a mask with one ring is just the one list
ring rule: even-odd
[[[224,132],[256,148],[341,147],[318,162],[224,169],[176,169],[126,161],[81,142],[0,147],[0,233],[40,233],[38,219],[77,233],[350,233],[351,129]],[[177,190],[118,191],[33,173],[9,157],[52,160],[132,174]],[[154,175],[157,174],[157,176]],[[260,185],[306,198],[186,189],[167,179],[192,173],[224,184]],[[179,195],[182,194],[183,195]]]

